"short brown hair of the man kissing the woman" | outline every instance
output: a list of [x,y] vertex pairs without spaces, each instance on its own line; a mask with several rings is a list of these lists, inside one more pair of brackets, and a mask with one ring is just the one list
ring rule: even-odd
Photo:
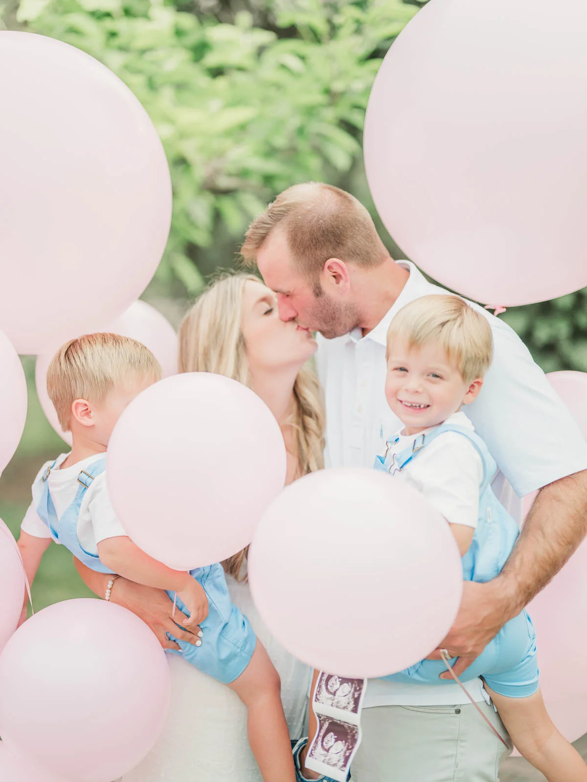
[[297,266],[313,279],[330,258],[369,267],[388,256],[365,206],[354,195],[322,182],[287,188],[254,219],[240,249],[247,265],[254,264],[275,228],[285,231]]

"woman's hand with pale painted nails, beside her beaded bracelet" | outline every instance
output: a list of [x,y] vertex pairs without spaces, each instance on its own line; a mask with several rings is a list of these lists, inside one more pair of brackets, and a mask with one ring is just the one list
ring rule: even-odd
[[110,601],[128,608],[139,619],[142,619],[153,630],[164,649],[179,650],[178,644],[167,638],[167,633],[179,640],[185,640],[186,644],[196,644],[200,640],[197,637],[199,627],[194,628],[196,633],[194,634],[183,630],[176,624],[176,622],[182,622],[182,625],[185,625],[188,622],[185,614],[178,608],[175,609],[175,622],[171,619],[173,603],[164,590],[143,587],[142,584],[120,578],[114,582]]

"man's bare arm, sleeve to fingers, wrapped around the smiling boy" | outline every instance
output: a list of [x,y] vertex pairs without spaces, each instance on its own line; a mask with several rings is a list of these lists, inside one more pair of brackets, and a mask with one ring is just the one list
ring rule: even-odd
[[[587,470],[544,486],[532,505],[510,558],[488,583],[463,584],[463,601],[440,648],[459,657],[463,671],[490,640],[563,567],[587,533]],[[440,655],[432,655],[439,658]],[[441,678],[447,679],[447,672]]]

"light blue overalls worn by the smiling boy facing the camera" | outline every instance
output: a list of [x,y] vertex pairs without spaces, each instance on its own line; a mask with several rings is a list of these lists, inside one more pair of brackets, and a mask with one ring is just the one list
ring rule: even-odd
[[[483,464],[483,479],[479,490],[479,517],[473,542],[463,556],[463,580],[484,583],[501,572],[506,559],[516,543],[519,530],[516,522],[499,503],[492,491],[491,482],[497,465],[484,441],[475,432],[454,424],[441,424],[416,437],[413,444],[399,454],[376,457],[375,469],[390,473],[402,469],[417,458],[420,451],[441,434],[456,432],[466,437],[477,450]],[[398,437],[387,442],[387,450],[398,443]],[[453,661],[454,662],[454,659]],[[398,682],[447,684],[451,680],[440,679],[446,666],[439,660],[422,660],[400,673],[384,676]],[[528,613],[523,611],[507,622],[497,636],[484,648],[481,655],[467,668],[460,678],[468,681],[483,676],[488,687],[510,698],[526,698],[538,690],[538,662],[536,637]]]

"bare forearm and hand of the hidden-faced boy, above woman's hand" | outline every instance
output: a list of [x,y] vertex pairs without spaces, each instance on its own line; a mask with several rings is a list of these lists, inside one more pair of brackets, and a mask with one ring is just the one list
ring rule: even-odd
[[173,570],[149,557],[128,536],[106,538],[98,543],[100,561],[120,576],[146,587],[177,592],[189,611],[186,623],[192,629],[208,614],[208,600],[203,587],[189,572]]

